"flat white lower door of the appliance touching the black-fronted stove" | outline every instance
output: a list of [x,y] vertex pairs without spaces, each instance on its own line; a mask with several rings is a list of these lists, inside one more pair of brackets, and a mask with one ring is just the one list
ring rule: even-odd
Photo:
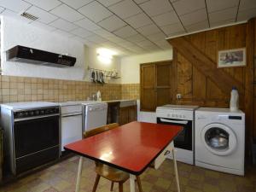
[[82,139],[82,117],[82,113],[61,116],[61,151],[65,151],[65,145]]

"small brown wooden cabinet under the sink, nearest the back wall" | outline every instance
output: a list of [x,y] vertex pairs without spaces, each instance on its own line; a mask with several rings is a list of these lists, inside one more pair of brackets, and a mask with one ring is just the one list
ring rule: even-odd
[[137,120],[137,106],[128,106],[119,110],[119,125],[125,125]]

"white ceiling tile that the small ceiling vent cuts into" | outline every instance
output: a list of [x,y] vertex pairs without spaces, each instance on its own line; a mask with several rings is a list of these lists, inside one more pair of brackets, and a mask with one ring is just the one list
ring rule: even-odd
[[49,12],[44,11],[43,9],[39,9],[38,7],[35,7],[35,6],[32,6],[31,8],[27,9],[26,12],[31,15],[37,16],[38,17],[37,21],[40,21],[46,24],[57,19],[55,15],[49,14]]

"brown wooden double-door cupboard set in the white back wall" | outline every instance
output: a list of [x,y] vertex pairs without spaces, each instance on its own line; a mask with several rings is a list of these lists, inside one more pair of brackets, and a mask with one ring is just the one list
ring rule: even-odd
[[140,66],[141,110],[155,111],[172,103],[172,61],[144,63]]

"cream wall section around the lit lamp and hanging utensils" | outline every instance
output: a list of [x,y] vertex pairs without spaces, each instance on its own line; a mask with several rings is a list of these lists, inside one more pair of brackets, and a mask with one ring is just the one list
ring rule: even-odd
[[[116,70],[120,75],[120,58],[113,56],[113,59],[110,63],[104,63],[98,60],[96,49],[88,48],[84,46],[84,55],[85,55],[85,77],[84,80],[90,81],[90,71],[88,66],[100,70],[113,71]],[[119,84],[120,79],[105,79],[108,83]]]

